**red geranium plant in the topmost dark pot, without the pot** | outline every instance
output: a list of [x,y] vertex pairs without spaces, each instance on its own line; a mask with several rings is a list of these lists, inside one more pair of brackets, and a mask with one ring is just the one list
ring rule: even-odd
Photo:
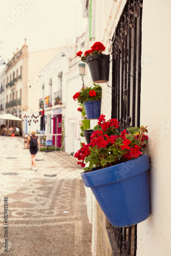
[[77,52],[76,56],[80,57],[83,62],[86,62],[87,57],[102,54],[103,51],[105,51],[105,46],[101,42],[95,42],[90,50],[84,52],[84,54],[79,51]]

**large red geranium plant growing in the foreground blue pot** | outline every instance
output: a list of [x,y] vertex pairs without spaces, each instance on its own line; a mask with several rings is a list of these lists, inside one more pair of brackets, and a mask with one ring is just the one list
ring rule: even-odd
[[[130,127],[123,132],[118,132],[119,122],[113,118],[105,121],[102,114],[98,119],[98,124],[94,127],[90,144],[83,144],[75,156],[84,167],[84,170],[91,171],[92,168],[101,169],[116,165],[122,162],[137,158],[142,154],[143,147],[146,146],[148,136],[146,127]],[[89,163],[88,167],[86,163]]]

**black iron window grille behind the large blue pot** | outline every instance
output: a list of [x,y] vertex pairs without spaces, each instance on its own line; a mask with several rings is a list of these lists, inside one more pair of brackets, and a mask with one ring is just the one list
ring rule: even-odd
[[[112,118],[120,131],[140,126],[141,23],[142,0],[127,0],[112,38]],[[111,228],[113,255],[136,256],[137,225]]]

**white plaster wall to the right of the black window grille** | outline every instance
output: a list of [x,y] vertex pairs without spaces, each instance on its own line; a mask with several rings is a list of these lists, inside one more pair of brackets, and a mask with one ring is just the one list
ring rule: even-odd
[[151,216],[138,224],[137,256],[171,251],[171,2],[143,1],[141,125],[148,125]]

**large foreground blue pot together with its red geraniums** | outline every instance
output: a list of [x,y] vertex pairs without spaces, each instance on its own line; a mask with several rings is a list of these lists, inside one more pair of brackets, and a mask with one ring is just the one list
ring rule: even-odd
[[[113,226],[135,225],[150,214],[147,170],[142,154],[148,137],[146,127],[131,127],[119,133],[116,119],[105,121],[102,114],[89,144],[75,156],[84,167],[81,178],[91,187],[101,209]],[[86,166],[89,163],[89,166]]]

